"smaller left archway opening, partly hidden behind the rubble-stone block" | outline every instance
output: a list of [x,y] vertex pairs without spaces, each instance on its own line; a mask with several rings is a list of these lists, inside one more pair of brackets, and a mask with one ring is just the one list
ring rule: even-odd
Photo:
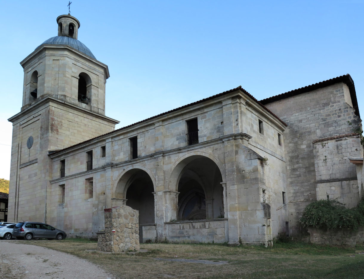
[[116,186],[115,197],[139,211],[139,226],[154,224],[154,186],[149,174],[141,169],[126,172]]

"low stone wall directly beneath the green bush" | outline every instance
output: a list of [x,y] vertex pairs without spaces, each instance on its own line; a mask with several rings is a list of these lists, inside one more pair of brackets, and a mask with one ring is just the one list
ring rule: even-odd
[[355,246],[364,242],[364,228],[359,228],[358,231],[349,231],[348,229],[326,231],[309,228],[308,233],[310,234],[309,242],[315,244]]

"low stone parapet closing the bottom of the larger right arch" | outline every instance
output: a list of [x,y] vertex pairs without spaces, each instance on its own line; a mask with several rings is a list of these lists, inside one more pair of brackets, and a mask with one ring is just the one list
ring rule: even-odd
[[224,243],[228,239],[227,218],[166,223],[168,241],[191,243]]

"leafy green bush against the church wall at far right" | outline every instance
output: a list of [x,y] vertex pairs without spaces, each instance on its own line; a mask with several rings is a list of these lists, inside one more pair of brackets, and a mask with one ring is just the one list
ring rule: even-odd
[[300,223],[303,227],[356,231],[364,226],[364,199],[353,208],[345,208],[336,200],[314,201],[305,208]]

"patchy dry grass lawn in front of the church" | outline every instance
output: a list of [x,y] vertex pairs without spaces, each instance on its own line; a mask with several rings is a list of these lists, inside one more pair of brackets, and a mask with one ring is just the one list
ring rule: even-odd
[[[104,254],[85,239],[20,240],[70,253],[98,264],[117,278],[364,278],[364,246],[329,247],[275,243],[272,248],[219,244],[141,244],[148,252]],[[363,252],[363,254],[360,254]],[[196,259],[203,264],[161,259]]]

